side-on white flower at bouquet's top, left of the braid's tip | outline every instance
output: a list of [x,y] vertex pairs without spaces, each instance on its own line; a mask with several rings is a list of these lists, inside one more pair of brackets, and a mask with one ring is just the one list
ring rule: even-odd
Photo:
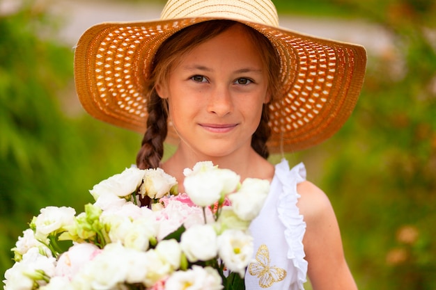
[[144,170],[136,167],[126,168],[123,172],[96,184],[89,192],[93,195],[94,200],[98,200],[101,195],[126,197],[137,190],[142,183],[143,176]]

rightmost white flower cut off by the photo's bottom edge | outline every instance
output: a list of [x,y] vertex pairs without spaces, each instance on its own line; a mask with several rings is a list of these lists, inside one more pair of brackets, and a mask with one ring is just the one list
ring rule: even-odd
[[174,272],[165,282],[165,290],[221,290],[222,279],[212,267],[192,266],[187,271]]

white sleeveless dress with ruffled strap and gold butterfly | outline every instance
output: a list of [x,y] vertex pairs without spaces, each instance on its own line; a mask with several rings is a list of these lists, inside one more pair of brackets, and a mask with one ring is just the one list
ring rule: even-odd
[[254,261],[245,273],[245,289],[304,289],[307,261],[302,241],[306,223],[297,207],[297,184],[304,180],[303,163],[290,169],[283,159],[275,166],[270,193],[250,225]]

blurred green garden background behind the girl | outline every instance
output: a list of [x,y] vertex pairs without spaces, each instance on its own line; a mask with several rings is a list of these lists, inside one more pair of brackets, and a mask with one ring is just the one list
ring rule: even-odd
[[[306,163],[329,195],[359,289],[436,289],[436,1],[274,3],[281,26],[368,49],[350,120],[327,142],[286,156]],[[158,18],[163,6],[0,0],[2,274],[40,208],[84,211],[94,184],[135,162],[141,136],[93,120],[77,101],[79,36],[98,22]]]

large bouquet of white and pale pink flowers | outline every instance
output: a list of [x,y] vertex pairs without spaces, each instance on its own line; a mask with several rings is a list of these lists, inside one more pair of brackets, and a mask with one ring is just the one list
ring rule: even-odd
[[[186,169],[185,192],[162,169],[128,168],[95,185],[76,214],[46,207],[18,238],[3,289],[244,289],[248,232],[270,184],[210,161]],[[152,207],[139,207],[148,196]]]

